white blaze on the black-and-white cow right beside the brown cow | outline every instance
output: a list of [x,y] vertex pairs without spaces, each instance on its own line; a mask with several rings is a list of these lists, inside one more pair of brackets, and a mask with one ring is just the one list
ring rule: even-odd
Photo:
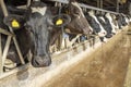
[[99,27],[100,27],[100,32],[98,33],[99,37],[104,37],[107,35],[107,32],[104,29],[104,27],[102,26],[102,24],[99,23],[99,21],[97,20],[97,17],[94,15],[93,11],[90,11],[88,14],[96,21],[96,23],[98,23]]

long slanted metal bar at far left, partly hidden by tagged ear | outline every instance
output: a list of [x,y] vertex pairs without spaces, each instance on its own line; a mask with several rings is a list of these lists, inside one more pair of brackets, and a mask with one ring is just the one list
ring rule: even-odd
[[[1,3],[1,8],[2,8],[2,11],[3,11],[4,16],[8,16],[8,10],[7,10],[7,7],[5,7],[3,0],[0,0],[0,3]],[[13,33],[13,29],[12,29],[11,27],[9,27],[9,29],[10,29],[10,32],[11,32],[12,34],[14,34],[14,33]],[[15,45],[15,48],[16,48],[16,51],[17,51],[17,53],[19,53],[19,57],[20,57],[20,60],[21,60],[22,64],[25,64],[24,59],[23,59],[23,57],[22,57],[22,53],[21,53],[21,50],[20,50],[20,48],[19,48],[19,45],[17,45],[17,41],[16,41],[16,38],[15,38],[15,37],[13,37],[13,41],[14,41],[14,45]]]

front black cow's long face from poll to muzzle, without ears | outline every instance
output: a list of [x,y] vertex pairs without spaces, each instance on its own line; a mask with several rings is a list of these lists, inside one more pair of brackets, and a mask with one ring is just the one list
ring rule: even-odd
[[32,65],[35,67],[48,66],[51,63],[49,26],[47,23],[50,13],[47,11],[47,5],[40,1],[33,1],[29,9],[26,26],[32,35]]

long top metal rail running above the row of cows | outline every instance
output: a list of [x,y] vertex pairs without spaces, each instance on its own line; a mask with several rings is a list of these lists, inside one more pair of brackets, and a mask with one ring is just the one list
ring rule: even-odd
[[[57,2],[61,2],[61,3],[66,3],[66,4],[69,2],[68,0],[50,0],[50,1],[57,1]],[[98,8],[91,7],[91,5],[87,5],[87,4],[84,4],[84,3],[79,3],[79,4],[80,4],[80,7],[86,8],[86,9],[97,10],[97,11],[102,11],[102,12],[108,12],[108,13],[112,13],[112,14],[119,14],[118,12],[108,11],[108,10],[104,10],[104,9],[98,9]]]

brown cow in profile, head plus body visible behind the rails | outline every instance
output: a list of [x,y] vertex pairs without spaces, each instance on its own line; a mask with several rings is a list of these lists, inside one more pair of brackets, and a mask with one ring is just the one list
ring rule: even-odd
[[[61,14],[68,14],[71,17],[71,21],[69,22],[69,24],[64,26],[64,32],[68,33],[67,35],[69,36],[66,38],[70,39],[70,37],[76,36],[78,34],[82,34],[82,35],[92,34],[93,29],[90,27],[88,22],[86,21],[86,17],[81,7],[75,0],[69,0],[68,4],[62,5]],[[56,16],[56,17],[59,17],[59,16]],[[58,34],[60,34],[60,32],[58,32]],[[58,35],[53,34],[53,37],[55,36],[58,36]],[[78,36],[75,38],[78,38]],[[72,40],[74,42],[74,39],[70,39],[70,41]],[[73,45],[73,42],[69,44],[69,47]]]

